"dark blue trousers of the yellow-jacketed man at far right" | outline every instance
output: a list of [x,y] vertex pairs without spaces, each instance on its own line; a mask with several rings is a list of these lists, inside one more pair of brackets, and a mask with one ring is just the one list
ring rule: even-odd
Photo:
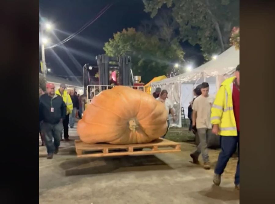
[[221,175],[226,168],[229,158],[235,153],[238,145],[238,163],[235,174],[235,184],[240,184],[240,132],[238,136],[221,136],[222,151],[219,154],[218,162],[216,164],[215,173]]

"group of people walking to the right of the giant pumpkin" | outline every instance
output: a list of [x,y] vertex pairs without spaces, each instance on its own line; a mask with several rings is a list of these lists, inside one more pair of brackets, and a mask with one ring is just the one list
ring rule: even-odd
[[[204,169],[210,169],[207,142],[213,134],[220,136],[221,152],[215,166],[213,182],[220,185],[229,158],[236,152],[240,155],[240,65],[236,67],[235,76],[222,82],[215,97],[209,95],[209,84],[203,82],[193,90],[194,99],[188,107],[190,119],[189,131],[197,134],[200,140],[196,150],[190,154],[194,164],[199,164],[202,155]],[[153,97],[164,103],[166,110],[175,120],[173,103],[167,97],[167,90],[156,88]],[[168,128],[170,126],[167,121]],[[168,131],[168,129],[167,129]],[[165,137],[165,135],[163,136]],[[237,162],[235,187],[240,189],[240,158]]]

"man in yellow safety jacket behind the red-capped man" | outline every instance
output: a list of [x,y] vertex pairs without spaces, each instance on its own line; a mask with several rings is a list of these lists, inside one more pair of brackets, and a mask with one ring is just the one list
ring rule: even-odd
[[[63,101],[67,106],[66,118],[63,120],[63,129],[64,129],[64,140],[69,141],[70,140],[69,139],[69,118],[70,118],[69,116],[72,113],[73,104],[72,104],[70,95],[65,90],[66,88],[67,87],[65,84],[60,84],[60,88],[55,93],[63,98]],[[61,134],[61,140],[63,140],[62,134]]]

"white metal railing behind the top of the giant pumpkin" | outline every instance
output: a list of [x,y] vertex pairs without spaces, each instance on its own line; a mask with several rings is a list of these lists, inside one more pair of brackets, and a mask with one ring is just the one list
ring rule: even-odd
[[[87,86],[87,103],[90,104],[91,100],[94,98],[94,96],[96,96],[100,92],[102,92],[104,90],[112,89],[115,86],[116,85],[114,85],[114,86],[113,85],[88,85]],[[130,87],[132,89],[138,89],[138,90],[145,92],[144,86],[127,86],[127,87]],[[90,93],[89,93],[89,90],[90,90]]]

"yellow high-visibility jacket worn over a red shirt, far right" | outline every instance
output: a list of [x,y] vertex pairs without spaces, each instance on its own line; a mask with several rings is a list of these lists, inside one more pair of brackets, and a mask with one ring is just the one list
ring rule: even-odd
[[237,126],[233,111],[232,90],[236,77],[230,77],[222,82],[211,108],[211,123],[219,124],[222,136],[237,136]]

